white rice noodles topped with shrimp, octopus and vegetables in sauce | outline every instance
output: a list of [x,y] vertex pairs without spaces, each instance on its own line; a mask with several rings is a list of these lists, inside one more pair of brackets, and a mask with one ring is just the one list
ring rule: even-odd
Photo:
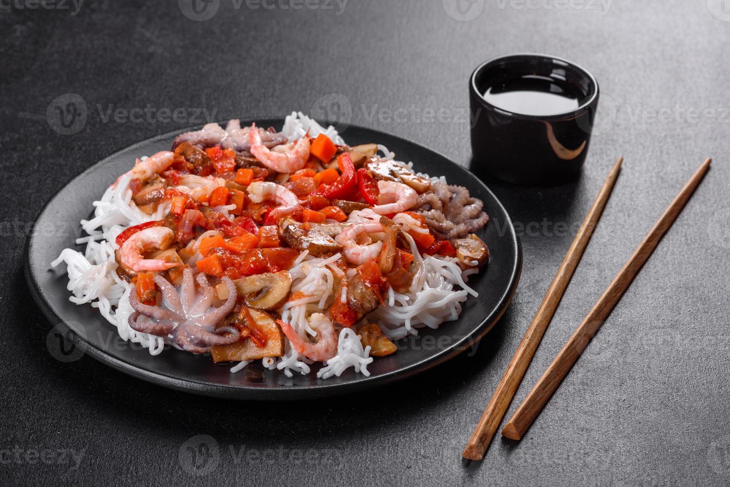
[[211,123],[139,156],[81,221],[85,250],[51,265],[152,355],[369,375],[477,297],[483,202],[377,141],[350,147],[295,112],[280,131]]

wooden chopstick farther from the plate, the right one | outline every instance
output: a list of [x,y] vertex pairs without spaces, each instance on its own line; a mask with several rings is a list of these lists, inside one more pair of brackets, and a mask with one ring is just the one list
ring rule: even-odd
[[699,169],[685,184],[677,197],[664,211],[664,214],[658,219],[656,224],[644,238],[639,248],[631,255],[631,258],[623,266],[618,275],[613,279],[608,289],[599,298],[598,302],[593,305],[588,316],[585,316],[583,322],[577,327],[573,335],[569,338],[558,356],[550,364],[548,370],[542,374],[532,391],[527,395],[515,414],[512,415],[510,421],[502,429],[502,435],[512,440],[520,440],[527,432],[535,418],[539,415],[545,405],[558,389],[560,383],[569,373],[570,369],[577,362],[580,354],[583,353],[585,347],[593,338],[593,335],[599,330],[604,320],[610,315],[615,305],[621,300],[623,293],[629,289],[631,281],[641,270],[642,266],[649,259],[650,255],[656,249],[659,241],[664,234],[672,227],[680,212],[692,197],[694,190],[702,182],[702,178],[710,169],[712,159],[707,159],[702,163]]

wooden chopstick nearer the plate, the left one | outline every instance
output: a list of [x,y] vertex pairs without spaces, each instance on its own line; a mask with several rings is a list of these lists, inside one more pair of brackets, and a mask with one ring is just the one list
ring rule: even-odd
[[496,391],[494,391],[491,400],[489,400],[487,408],[479,420],[479,424],[477,424],[474,433],[472,433],[472,437],[469,438],[469,443],[464,448],[464,453],[461,453],[461,456],[465,459],[481,460],[485,451],[487,451],[489,443],[491,443],[497,428],[499,428],[499,423],[504,418],[504,413],[507,412],[512,398],[515,397],[515,391],[517,391],[520,381],[522,381],[525,371],[530,365],[537,346],[542,340],[542,335],[545,335],[545,330],[547,330],[550,320],[553,319],[553,315],[558,308],[565,289],[568,287],[573,273],[575,273],[575,268],[577,268],[580,258],[583,257],[583,252],[588,246],[588,242],[591,241],[591,235],[593,235],[593,230],[596,228],[599,219],[601,219],[603,209],[606,207],[616,179],[618,179],[622,163],[623,157],[619,157],[608,174],[606,181],[603,183],[598,196],[596,196],[596,200],[593,201],[593,206],[591,206],[591,209],[585,216],[583,225],[580,226],[578,233],[575,235],[575,239],[573,239],[568,253],[565,255],[560,268],[558,268],[558,272],[553,278],[553,283],[550,284],[548,292],[542,298],[542,303],[537,308],[534,319],[532,319],[530,326],[525,332],[520,346],[515,351],[515,356],[512,357],[510,365],[504,371],[502,381],[499,381],[499,385]]

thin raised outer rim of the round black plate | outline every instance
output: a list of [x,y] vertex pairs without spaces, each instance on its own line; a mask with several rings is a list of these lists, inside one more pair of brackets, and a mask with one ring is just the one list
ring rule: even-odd
[[[284,117],[257,117],[257,119],[255,119],[254,121],[283,119]],[[226,121],[227,120],[223,120],[219,121],[218,123],[225,123]],[[52,203],[53,200],[55,200],[55,198],[58,196],[58,194],[66,189],[69,184],[77,179],[81,179],[83,176],[97,168],[97,166],[104,165],[104,163],[107,163],[109,160],[116,157],[120,152],[134,150],[135,147],[141,146],[142,144],[150,143],[151,141],[171,139],[172,137],[179,135],[180,133],[197,130],[201,127],[202,125],[194,125],[188,128],[176,129],[166,133],[161,133],[156,136],[149,137],[143,141],[137,141],[134,144],[128,145],[126,147],[116,150],[115,152],[112,152],[112,154],[107,155],[107,157],[104,157],[96,163],[90,165],[88,168],[85,168],[84,171],[82,171],[80,174],[77,174],[77,176],[72,177],[72,179],[66,182],[66,184],[64,184],[57,191],[55,191],[53,195],[48,198],[47,202],[39,211],[37,217],[34,219],[34,222],[37,222],[46,213],[46,211],[49,209],[50,203]],[[384,133],[382,130],[378,130],[377,128],[363,127],[361,125],[354,124],[348,125],[347,128],[356,128],[361,130],[369,130],[371,132]],[[437,353],[425,359],[421,359],[420,361],[415,362],[411,365],[407,365],[406,367],[399,370],[391,370],[381,375],[371,375],[368,377],[358,375],[353,381],[347,381],[344,383],[327,383],[326,381],[324,381],[324,383],[318,383],[311,386],[274,387],[266,389],[246,385],[214,384],[198,381],[196,379],[176,378],[171,375],[166,375],[165,373],[146,370],[143,367],[138,367],[134,364],[113,357],[112,355],[107,354],[107,352],[103,349],[96,347],[93,343],[90,343],[87,340],[78,337],[78,335],[75,333],[69,338],[72,338],[74,345],[80,347],[84,354],[88,354],[93,359],[101,362],[102,364],[108,365],[115,370],[125,373],[126,375],[134,378],[141,378],[148,383],[153,383],[155,385],[163,386],[169,389],[175,389],[177,391],[188,392],[191,394],[197,394],[206,397],[255,401],[302,400],[315,399],[320,397],[334,397],[336,395],[351,394],[356,391],[372,389],[373,387],[377,386],[386,386],[393,382],[401,381],[406,378],[419,375],[420,373],[425,373],[426,371],[432,370],[434,367],[437,367],[438,365],[441,365],[444,362],[447,362],[450,359],[453,359],[454,357],[463,353],[464,351],[466,351],[466,349],[469,348],[469,344],[475,343],[484,338],[484,336],[491,331],[494,325],[499,322],[499,319],[502,319],[502,316],[504,316],[507,308],[509,308],[510,303],[512,302],[512,297],[514,297],[515,295],[522,274],[522,243],[515,231],[512,217],[510,217],[507,209],[504,208],[504,204],[502,203],[502,201],[499,200],[499,198],[496,197],[496,195],[489,189],[485,182],[479,179],[479,177],[472,173],[472,171],[469,171],[469,169],[465,168],[463,165],[455,163],[453,160],[451,160],[450,157],[446,157],[440,152],[437,152],[434,149],[430,149],[429,147],[426,147],[419,142],[410,141],[409,139],[405,139],[401,136],[390,133],[386,133],[385,135],[393,139],[398,139],[399,142],[402,142],[404,144],[415,146],[418,147],[418,149],[423,149],[427,152],[438,155],[444,160],[447,160],[451,165],[457,166],[459,171],[464,171],[465,173],[468,173],[479,184],[482,185],[483,190],[491,195],[493,200],[499,206],[499,209],[502,211],[502,214],[507,217],[507,222],[505,223],[509,223],[509,225],[506,225],[506,227],[509,229],[509,232],[507,235],[505,235],[505,237],[509,236],[510,245],[515,251],[515,264],[512,266],[512,269],[510,271],[510,286],[504,290],[502,296],[499,298],[499,304],[496,306],[496,308],[494,308],[491,313],[486,315],[481,320],[481,322],[479,322],[479,324],[475,328],[474,333],[460,338],[456,343],[453,343],[451,346],[441,351],[437,351]],[[65,329],[64,331],[71,330],[68,324],[66,324],[66,320],[62,316],[59,316],[58,313],[53,310],[53,307],[50,305],[50,303],[47,303],[45,297],[43,296],[42,290],[39,288],[37,278],[34,277],[33,268],[31,265],[31,245],[34,243],[35,237],[36,233],[31,233],[31,235],[28,235],[28,238],[26,238],[26,244],[23,249],[23,273],[26,276],[26,284],[28,284],[28,288],[31,291],[31,295],[33,296],[34,301],[39,306],[41,312],[46,317],[46,319],[48,319],[52,323],[57,323],[56,326],[61,325],[61,327]],[[78,338],[73,339],[74,337]]]

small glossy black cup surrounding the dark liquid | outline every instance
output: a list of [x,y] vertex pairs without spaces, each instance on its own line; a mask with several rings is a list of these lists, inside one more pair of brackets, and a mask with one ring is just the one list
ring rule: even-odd
[[[518,113],[496,106],[485,96],[490,87],[536,78],[553,91],[569,91],[576,100],[575,108],[536,115],[529,114],[526,106]],[[469,98],[471,169],[477,176],[520,185],[560,184],[580,176],[599,99],[598,82],[591,73],[555,56],[504,55],[474,71]]]

